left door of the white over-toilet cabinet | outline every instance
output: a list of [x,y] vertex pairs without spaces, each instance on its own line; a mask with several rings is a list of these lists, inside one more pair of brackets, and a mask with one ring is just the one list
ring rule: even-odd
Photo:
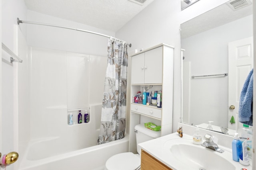
[[132,84],[144,84],[144,57],[141,53],[132,57]]

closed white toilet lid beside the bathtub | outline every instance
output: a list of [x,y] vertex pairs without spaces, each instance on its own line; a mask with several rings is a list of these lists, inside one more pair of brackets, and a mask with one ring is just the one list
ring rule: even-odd
[[124,152],[111,156],[106,162],[106,170],[137,170],[140,158],[132,152]]

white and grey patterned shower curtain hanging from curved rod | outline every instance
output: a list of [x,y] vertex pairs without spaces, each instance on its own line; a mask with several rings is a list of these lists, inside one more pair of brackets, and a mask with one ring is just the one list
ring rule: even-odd
[[123,41],[108,40],[100,135],[98,144],[122,139],[126,125],[126,86],[128,54]]

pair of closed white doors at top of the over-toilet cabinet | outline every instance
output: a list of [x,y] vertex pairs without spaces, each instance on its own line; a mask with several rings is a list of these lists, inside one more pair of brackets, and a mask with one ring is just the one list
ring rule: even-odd
[[157,47],[133,57],[131,84],[162,83],[162,50]]

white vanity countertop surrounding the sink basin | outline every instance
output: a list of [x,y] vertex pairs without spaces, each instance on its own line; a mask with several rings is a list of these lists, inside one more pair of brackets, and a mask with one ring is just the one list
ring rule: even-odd
[[[146,141],[138,145],[140,145],[140,147],[142,147],[143,150],[145,150],[146,152],[148,152],[149,154],[154,156],[156,159],[158,159],[160,162],[166,164],[166,166],[172,168],[173,170],[198,170],[198,168],[191,166],[191,164],[187,163],[187,161],[182,157],[177,158],[172,154],[172,152],[170,151],[170,147],[168,147],[168,141],[172,139],[175,139],[175,140],[178,139],[180,140],[179,141],[180,143],[183,143],[183,142],[190,143],[190,140],[191,140],[191,144],[189,145],[202,147],[203,149],[208,149],[201,145],[192,144],[192,136],[187,135],[186,133],[183,133],[182,138],[178,136],[178,133],[172,133],[170,135],[166,135],[150,141]],[[230,145],[232,144],[230,143]],[[225,151],[223,153],[219,153],[210,149],[210,152],[214,152],[214,154],[218,154],[219,156],[222,156],[223,159],[226,159],[227,161],[231,162],[236,167],[236,170],[240,170],[241,168],[252,170],[251,162],[250,162],[250,166],[243,166],[239,162],[235,162],[234,160],[232,160],[232,150],[230,148],[222,147],[220,145],[219,147],[221,149],[224,149]],[[199,153],[195,153],[195,154],[199,154]]]

